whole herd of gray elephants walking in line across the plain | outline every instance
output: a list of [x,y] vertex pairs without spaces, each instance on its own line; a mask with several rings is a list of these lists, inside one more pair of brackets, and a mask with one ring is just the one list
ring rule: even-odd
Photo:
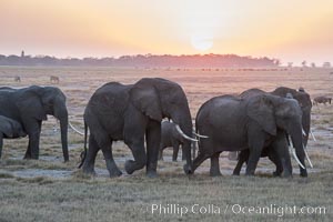
[[[133,160],[124,164],[128,174],[145,167],[147,175],[155,176],[163,149],[173,147],[175,160],[181,144],[186,174],[210,159],[210,174],[220,175],[220,153],[240,151],[233,174],[239,174],[246,162],[245,174],[253,175],[260,157],[269,157],[276,167],[274,175],[291,176],[291,151],[301,176],[307,176],[305,159],[312,165],[306,152],[311,108],[304,89],[250,89],[204,102],[193,130],[189,102],[178,83],[160,78],[143,78],[133,84],[109,82],[85,107],[84,151],[79,168],[95,174],[97,153],[102,150],[110,176],[121,175],[112,154],[112,143],[121,140],[133,154]],[[71,124],[63,92],[54,87],[0,88],[0,158],[3,138],[28,135],[24,159],[38,159],[41,123],[47,114],[60,121],[63,158],[69,161],[67,134]],[[196,142],[198,155],[192,157]]]

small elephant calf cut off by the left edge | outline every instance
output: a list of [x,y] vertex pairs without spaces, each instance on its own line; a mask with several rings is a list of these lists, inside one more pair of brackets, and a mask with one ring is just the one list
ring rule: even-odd
[[0,158],[2,154],[3,139],[16,139],[26,135],[27,133],[18,121],[0,115]]

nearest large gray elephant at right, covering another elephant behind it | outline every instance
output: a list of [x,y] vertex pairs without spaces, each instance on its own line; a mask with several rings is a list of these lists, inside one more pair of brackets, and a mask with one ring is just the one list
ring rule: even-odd
[[296,153],[304,164],[301,109],[295,100],[272,94],[250,99],[222,95],[206,101],[199,110],[195,124],[200,134],[195,170],[211,159],[211,175],[220,175],[219,155],[223,151],[250,150],[246,175],[253,175],[264,147],[272,145],[283,165],[283,175],[292,175],[292,165],[285,144],[289,132],[296,144]]

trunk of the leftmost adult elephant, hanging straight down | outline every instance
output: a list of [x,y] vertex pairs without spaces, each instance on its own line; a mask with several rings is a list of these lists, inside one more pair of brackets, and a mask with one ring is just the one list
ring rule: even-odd
[[54,117],[60,121],[61,144],[64,162],[69,161],[68,153],[68,111],[65,105],[56,105]]

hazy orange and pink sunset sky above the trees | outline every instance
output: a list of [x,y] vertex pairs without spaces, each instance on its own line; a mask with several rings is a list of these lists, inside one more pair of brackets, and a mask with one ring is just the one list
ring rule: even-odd
[[0,0],[0,54],[333,62],[333,0]]

